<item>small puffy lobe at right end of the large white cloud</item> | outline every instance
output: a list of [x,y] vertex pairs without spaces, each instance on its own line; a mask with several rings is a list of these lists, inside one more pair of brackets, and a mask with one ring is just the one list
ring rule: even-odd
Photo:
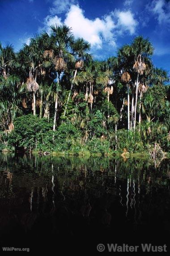
[[118,18],[117,26],[121,28],[121,32],[129,31],[131,35],[135,34],[136,26],[138,22],[134,18],[133,13],[129,11],[116,10],[113,15]]

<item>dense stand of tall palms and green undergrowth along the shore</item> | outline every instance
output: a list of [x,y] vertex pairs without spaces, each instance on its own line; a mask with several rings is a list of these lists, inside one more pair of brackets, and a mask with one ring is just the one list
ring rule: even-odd
[[15,53],[0,44],[0,150],[170,151],[168,72],[136,37],[98,61],[71,28],[51,26]]

